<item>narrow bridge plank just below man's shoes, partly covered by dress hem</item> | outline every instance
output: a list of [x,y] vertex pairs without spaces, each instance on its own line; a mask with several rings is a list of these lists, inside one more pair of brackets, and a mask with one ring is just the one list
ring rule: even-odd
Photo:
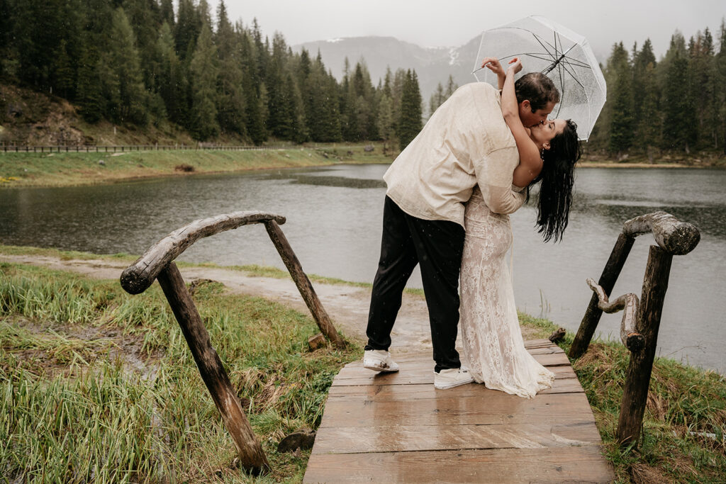
[[[446,396],[461,397],[468,395],[467,385],[454,387],[445,390]],[[496,392],[499,390],[484,390],[484,398],[486,392]],[[582,393],[582,385],[576,378],[555,379],[555,385],[552,388],[542,390],[537,395],[544,393]],[[420,400],[422,398],[439,398],[441,390],[436,390],[431,384],[421,385],[337,385],[330,387],[327,395],[328,401],[344,401],[344,400],[365,400],[365,401],[395,401],[395,400]]]

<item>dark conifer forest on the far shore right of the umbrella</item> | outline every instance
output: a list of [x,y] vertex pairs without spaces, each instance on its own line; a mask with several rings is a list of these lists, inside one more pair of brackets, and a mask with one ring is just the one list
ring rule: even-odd
[[656,60],[650,39],[619,42],[603,66],[608,102],[589,149],[613,155],[668,150],[726,153],[726,22],[717,41],[708,28],[685,40],[676,31]]

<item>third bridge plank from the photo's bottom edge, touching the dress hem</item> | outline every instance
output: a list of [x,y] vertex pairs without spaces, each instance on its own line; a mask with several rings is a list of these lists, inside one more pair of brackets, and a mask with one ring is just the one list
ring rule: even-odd
[[[469,385],[486,390],[484,387]],[[443,390],[444,392],[446,390]],[[524,424],[534,422],[594,421],[584,393],[558,393],[519,398],[502,392],[472,392],[460,398],[415,401],[344,401],[331,399],[320,427],[375,425]]]

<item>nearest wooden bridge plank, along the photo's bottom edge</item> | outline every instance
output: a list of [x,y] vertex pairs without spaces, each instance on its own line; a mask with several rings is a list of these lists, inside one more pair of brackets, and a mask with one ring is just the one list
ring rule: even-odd
[[313,454],[303,482],[609,483],[599,446]]

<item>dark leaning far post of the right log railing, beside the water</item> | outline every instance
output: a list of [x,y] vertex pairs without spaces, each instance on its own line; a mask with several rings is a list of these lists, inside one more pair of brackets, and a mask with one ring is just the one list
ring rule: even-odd
[[[635,237],[630,237],[622,232],[619,234],[613,251],[610,253],[610,258],[608,258],[608,263],[605,264],[603,274],[600,275],[600,280],[597,282],[603,288],[603,291],[605,291],[605,295],[610,295],[610,292],[613,290],[613,286],[615,286],[615,282],[618,280],[620,271],[634,243]],[[579,358],[587,351],[587,347],[590,346],[590,340],[592,340],[592,335],[595,334],[597,323],[600,322],[600,316],[603,315],[603,310],[597,307],[599,303],[600,299],[594,293],[592,298],[590,298],[587,311],[585,311],[585,315],[582,317],[580,327],[577,329],[577,334],[572,341],[570,351],[567,353],[567,356],[570,358]]]

